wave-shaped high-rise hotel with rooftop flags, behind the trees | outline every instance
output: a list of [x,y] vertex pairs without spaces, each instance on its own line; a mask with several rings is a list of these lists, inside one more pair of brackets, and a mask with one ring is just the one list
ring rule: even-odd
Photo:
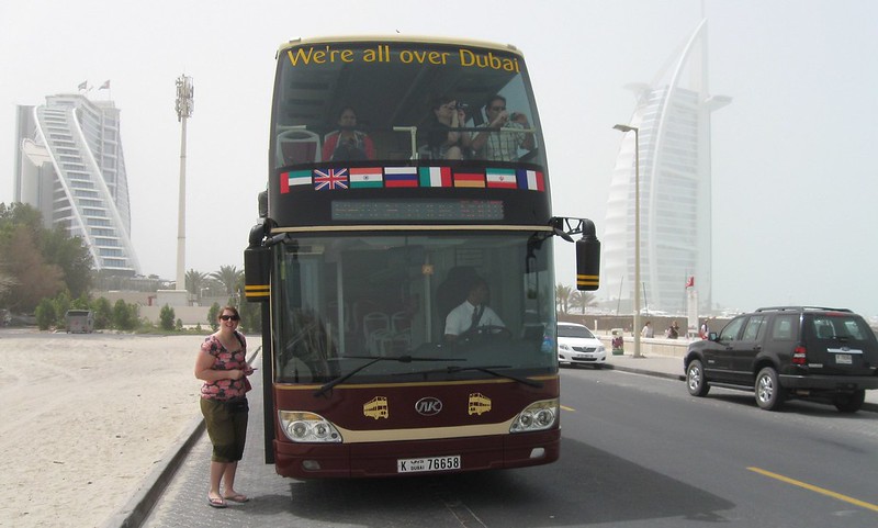
[[18,106],[13,199],[81,237],[94,269],[139,274],[131,243],[131,201],[120,139],[120,111],[112,101],[81,94]]

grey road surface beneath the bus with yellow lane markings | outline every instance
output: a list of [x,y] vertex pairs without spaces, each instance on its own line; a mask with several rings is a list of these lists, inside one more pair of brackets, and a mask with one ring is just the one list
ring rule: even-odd
[[[256,392],[258,393],[258,392]],[[261,409],[236,487],[205,503],[202,438],[147,527],[573,527],[878,525],[878,414],[752,395],[687,394],[679,381],[620,371],[562,372],[561,461],[476,474],[296,481],[262,463]]]

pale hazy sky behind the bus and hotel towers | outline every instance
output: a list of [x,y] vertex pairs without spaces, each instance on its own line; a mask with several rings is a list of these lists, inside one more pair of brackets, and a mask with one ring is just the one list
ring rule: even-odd
[[[0,202],[12,200],[14,111],[45,96],[109,96],[122,111],[132,239],[144,273],[176,276],[180,126],[175,79],[194,78],[187,269],[244,267],[266,186],[274,52],[297,36],[428,34],[525,53],[554,213],[603,236],[634,106],[707,15],[713,113],[713,300],[878,314],[878,2],[873,0],[249,0],[0,2]],[[98,90],[105,80],[112,89]],[[871,160],[871,161],[870,161]],[[573,284],[572,245],[558,281]],[[601,296],[612,292],[601,291]]]

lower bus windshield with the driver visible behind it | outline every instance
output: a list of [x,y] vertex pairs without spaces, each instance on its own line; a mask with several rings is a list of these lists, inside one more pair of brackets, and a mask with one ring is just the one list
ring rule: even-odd
[[346,383],[556,372],[544,233],[301,236],[277,250],[278,382],[325,383],[374,358],[387,360]]

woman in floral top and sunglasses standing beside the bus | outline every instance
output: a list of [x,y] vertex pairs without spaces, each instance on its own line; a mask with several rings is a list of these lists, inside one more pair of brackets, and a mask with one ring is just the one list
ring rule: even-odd
[[[240,315],[234,306],[225,306],[217,317],[219,329],[207,336],[195,360],[195,378],[201,386],[201,413],[213,443],[211,490],[207,504],[225,508],[226,501],[246,503],[249,498],[235,491],[235,472],[244,456],[247,439],[250,390],[247,364],[247,341],[237,330]],[[221,493],[221,484],[224,492]]]

